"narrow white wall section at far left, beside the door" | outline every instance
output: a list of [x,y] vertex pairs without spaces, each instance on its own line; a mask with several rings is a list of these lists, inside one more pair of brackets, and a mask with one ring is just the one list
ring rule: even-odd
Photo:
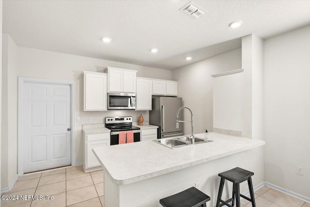
[[3,35],[1,183],[8,187],[17,175],[17,46]]

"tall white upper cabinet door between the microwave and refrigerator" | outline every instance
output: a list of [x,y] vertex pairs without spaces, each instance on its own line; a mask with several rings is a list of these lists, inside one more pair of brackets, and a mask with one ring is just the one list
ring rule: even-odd
[[152,80],[137,79],[136,110],[152,110]]

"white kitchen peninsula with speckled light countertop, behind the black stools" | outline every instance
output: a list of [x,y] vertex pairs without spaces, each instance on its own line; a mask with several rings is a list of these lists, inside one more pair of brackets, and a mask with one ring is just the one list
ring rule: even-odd
[[93,148],[104,168],[105,206],[160,207],[159,199],[195,185],[213,206],[217,174],[237,166],[254,172],[254,186],[263,182],[264,141],[218,133],[209,139],[176,149],[152,141]]

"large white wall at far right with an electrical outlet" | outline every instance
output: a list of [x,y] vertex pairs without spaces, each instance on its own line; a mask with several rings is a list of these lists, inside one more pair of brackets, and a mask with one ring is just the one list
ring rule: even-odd
[[[264,41],[265,180],[310,198],[310,26]],[[304,167],[297,175],[296,165]]]

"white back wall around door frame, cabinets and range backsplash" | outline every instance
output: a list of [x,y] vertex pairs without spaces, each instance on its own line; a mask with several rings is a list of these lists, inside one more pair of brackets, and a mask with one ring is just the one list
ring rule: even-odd
[[[121,67],[138,70],[137,76],[171,80],[172,71],[159,68],[146,67],[135,64],[82,57],[77,55],[51,52],[40,49],[18,47],[18,76],[57,80],[76,81],[76,116],[81,121],[76,123],[76,162],[83,161],[82,151],[82,125],[104,123],[106,116],[133,116],[138,122],[140,113],[144,121],[149,121],[148,111],[112,110],[112,111],[83,111],[83,76],[82,71],[103,72],[106,66]],[[93,121],[88,121],[88,116]]]

